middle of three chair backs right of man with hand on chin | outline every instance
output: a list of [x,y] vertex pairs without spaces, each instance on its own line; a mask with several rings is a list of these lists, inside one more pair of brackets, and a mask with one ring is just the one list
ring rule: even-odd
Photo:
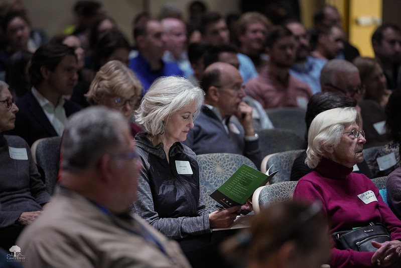
[[297,149],[306,149],[304,139],[290,129],[262,129],[258,131],[262,156]]

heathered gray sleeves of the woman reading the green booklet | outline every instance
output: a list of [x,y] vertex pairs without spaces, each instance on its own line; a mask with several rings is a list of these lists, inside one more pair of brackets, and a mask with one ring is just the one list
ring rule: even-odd
[[164,235],[172,239],[183,238],[188,234],[210,233],[209,213],[202,207],[203,200],[200,197],[198,217],[178,217],[178,218],[160,218],[154,209],[151,187],[149,185],[146,169],[143,168],[138,178],[138,198],[132,203],[131,209],[137,213],[153,227],[158,229]]

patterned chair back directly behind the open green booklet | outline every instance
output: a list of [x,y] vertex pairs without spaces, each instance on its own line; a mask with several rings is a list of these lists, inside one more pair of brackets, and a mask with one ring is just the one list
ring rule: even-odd
[[253,168],[255,164],[247,157],[232,153],[207,153],[197,156],[199,164],[200,194],[208,211],[215,211],[217,202],[209,197],[243,163]]

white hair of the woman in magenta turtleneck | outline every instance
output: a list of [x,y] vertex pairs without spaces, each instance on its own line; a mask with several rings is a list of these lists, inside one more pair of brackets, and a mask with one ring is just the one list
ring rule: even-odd
[[322,145],[336,147],[341,140],[344,128],[357,122],[357,113],[354,107],[334,108],[318,114],[313,119],[308,132],[308,149],[305,162],[314,168],[325,155]]

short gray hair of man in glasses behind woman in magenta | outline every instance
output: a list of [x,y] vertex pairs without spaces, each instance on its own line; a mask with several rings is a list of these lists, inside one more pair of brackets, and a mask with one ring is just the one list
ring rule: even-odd
[[333,84],[336,85],[336,72],[354,72],[358,71],[358,68],[351,62],[344,59],[332,59],[329,60],[322,68],[320,72],[320,85]]

